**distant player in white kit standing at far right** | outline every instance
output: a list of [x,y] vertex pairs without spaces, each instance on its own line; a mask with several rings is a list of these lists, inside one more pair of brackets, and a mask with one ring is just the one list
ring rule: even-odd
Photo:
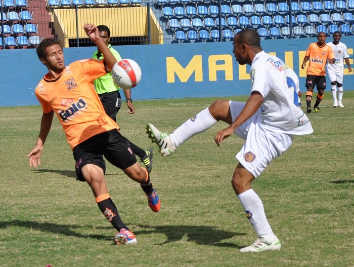
[[[328,74],[328,78],[331,81],[331,91],[333,96],[333,107],[344,107],[342,104],[343,98],[343,74],[344,74],[344,62],[348,66],[348,71],[351,71],[350,63],[349,63],[349,55],[346,50],[346,45],[339,42],[342,34],[339,31],[335,31],[333,33],[333,42],[328,43],[335,57],[335,61],[333,64],[326,64],[326,72]],[[337,100],[337,91],[338,91],[338,100]]]

